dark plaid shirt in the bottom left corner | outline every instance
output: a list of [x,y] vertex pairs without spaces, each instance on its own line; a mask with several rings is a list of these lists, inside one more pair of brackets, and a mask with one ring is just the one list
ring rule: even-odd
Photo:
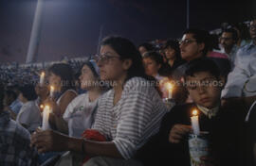
[[27,129],[10,120],[8,111],[0,112],[0,165],[37,165],[37,153],[29,144]]

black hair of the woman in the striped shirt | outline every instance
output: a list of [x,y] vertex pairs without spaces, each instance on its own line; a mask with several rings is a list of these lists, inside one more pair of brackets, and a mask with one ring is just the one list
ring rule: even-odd
[[132,60],[132,65],[128,69],[125,81],[135,76],[140,76],[150,80],[149,76],[145,74],[145,70],[142,63],[142,57],[140,56],[133,42],[122,37],[110,36],[104,38],[101,42],[101,45],[109,45],[113,50],[115,50],[119,54],[121,60]]

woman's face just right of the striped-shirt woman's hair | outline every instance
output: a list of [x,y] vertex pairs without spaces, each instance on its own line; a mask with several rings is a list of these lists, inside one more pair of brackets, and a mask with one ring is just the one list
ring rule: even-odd
[[146,72],[146,75],[155,76],[158,73],[161,65],[157,64],[156,61],[152,58],[143,58],[143,65]]

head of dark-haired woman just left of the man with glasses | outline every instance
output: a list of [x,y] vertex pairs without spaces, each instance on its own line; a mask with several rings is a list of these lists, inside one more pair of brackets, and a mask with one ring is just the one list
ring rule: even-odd
[[167,63],[172,68],[173,71],[181,64],[185,63],[185,60],[183,60],[180,56],[180,49],[179,49],[179,43],[173,40],[168,40],[164,46],[164,57],[167,59]]

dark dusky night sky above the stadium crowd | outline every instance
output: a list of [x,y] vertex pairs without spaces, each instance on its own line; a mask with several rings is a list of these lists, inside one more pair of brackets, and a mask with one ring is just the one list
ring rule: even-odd
[[[103,36],[117,34],[136,44],[179,38],[186,28],[186,0],[45,1],[38,61],[95,54],[101,25]],[[0,0],[0,63],[25,62],[36,2]],[[191,0],[191,26],[211,30],[245,21],[254,8],[253,0]]]

